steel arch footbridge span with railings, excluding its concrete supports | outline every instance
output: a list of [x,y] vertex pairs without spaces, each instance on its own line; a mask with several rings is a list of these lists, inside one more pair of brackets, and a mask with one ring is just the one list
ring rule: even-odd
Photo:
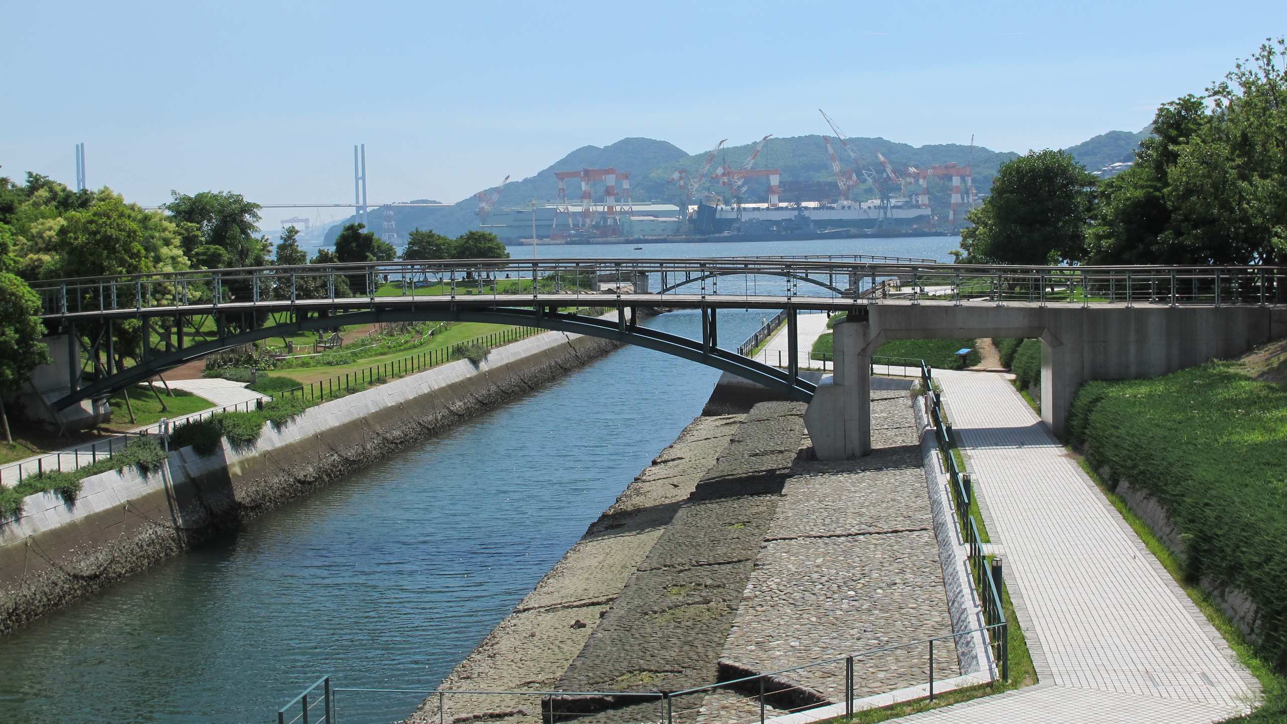
[[[740,290],[736,282],[717,283],[739,276]],[[900,289],[907,283],[910,292]],[[797,312],[861,316],[873,304],[1282,305],[1287,301],[1287,269],[981,267],[878,256],[474,259],[203,269],[31,286],[40,295],[46,327],[67,339],[63,359],[71,392],[53,402],[55,410],[64,410],[282,331],[400,321],[494,322],[598,336],[709,365],[808,399],[813,388],[794,367],[798,350],[789,354],[792,366],[777,370],[719,349],[718,309],[785,310],[788,341],[794,345]],[[894,298],[885,299],[891,292]],[[586,307],[616,309],[619,321],[568,312]],[[699,309],[701,339],[633,323],[634,310],[644,308]],[[954,318],[963,322],[978,316],[959,310],[965,314]],[[283,314],[288,321],[265,325],[270,316]],[[122,344],[127,353],[117,354]]]

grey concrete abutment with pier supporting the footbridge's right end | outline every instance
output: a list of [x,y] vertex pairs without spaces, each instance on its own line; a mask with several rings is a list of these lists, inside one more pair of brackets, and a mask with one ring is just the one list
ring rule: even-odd
[[1041,420],[1063,435],[1082,383],[1156,377],[1242,354],[1287,336],[1287,308],[870,304],[866,321],[842,322],[834,334],[835,374],[804,417],[821,460],[870,451],[870,359],[887,340],[1040,339]]

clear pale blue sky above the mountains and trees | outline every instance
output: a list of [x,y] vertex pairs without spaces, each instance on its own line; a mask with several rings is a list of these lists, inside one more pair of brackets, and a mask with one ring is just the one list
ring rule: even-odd
[[851,135],[1059,148],[1139,130],[1284,21],[1241,0],[0,0],[0,174],[72,186],[84,142],[90,186],[145,205],[342,202],[366,143],[371,201],[458,201],[624,137],[824,133],[820,107]]

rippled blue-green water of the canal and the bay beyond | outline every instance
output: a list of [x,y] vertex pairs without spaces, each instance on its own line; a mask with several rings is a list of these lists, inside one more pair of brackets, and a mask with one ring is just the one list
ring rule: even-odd
[[[956,243],[645,251],[942,259]],[[552,249],[538,254],[553,256]],[[523,251],[532,252],[511,249]],[[622,255],[607,245],[559,251]],[[722,347],[735,348],[764,316],[722,312]],[[700,321],[696,312],[672,312],[647,325],[699,336]],[[0,639],[0,721],[275,721],[277,707],[322,674],[342,687],[431,689],[674,441],[718,376],[623,348],[256,518],[218,545],[45,616]],[[347,694],[341,721],[395,721],[421,698]]]

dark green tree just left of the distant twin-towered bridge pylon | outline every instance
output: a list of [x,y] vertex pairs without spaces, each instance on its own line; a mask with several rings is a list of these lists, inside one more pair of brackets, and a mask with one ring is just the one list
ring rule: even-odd
[[[196,196],[171,191],[170,196],[171,201],[165,209],[179,228],[184,254],[201,267],[264,265],[268,242],[266,238],[255,236],[260,220],[259,204],[246,201],[242,195],[230,191],[202,191]],[[221,252],[202,249],[207,246],[218,247]]]

